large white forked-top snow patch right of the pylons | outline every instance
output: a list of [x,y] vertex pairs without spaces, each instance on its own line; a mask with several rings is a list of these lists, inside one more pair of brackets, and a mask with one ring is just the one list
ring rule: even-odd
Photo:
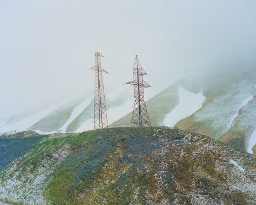
[[[166,115],[164,120],[165,126],[174,126],[181,119],[192,115],[195,111],[201,108],[202,103],[206,97],[203,92],[194,94],[190,91],[183,89],[181,86],[178,87],[178,95],[180,103]],[[168,102],[166,102],[168,103]]]

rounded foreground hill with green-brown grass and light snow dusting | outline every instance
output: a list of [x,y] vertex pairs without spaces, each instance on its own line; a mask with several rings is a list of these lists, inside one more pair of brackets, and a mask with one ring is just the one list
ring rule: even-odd
[[0,202],[256,203],[256,157],[167,127],[45,136],[0,173]]

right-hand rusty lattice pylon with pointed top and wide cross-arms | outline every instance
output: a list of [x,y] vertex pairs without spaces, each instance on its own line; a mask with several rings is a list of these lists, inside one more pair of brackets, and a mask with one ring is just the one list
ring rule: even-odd
[[134,80],[126,84],[134,85],[134,111],[132,112],[131,127],[149,126],[151,127],[149,114],[144,100],[144,88],[149,88],[150,85],[143,80],[143,76],[147,75],[140,64],[140,60],[136,55],[134,61]]

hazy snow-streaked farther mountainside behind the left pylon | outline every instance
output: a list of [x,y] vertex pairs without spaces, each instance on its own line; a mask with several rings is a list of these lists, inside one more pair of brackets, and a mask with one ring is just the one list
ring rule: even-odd
[[[107,115],[111,124],[132,110],[133,90],[115,89],[106,94],[106,101]],[[0,133],[14,130],[33,130],[40,134],[81,132],[94,129],[93,120],[94,99],[93,96],[86,96],[13,116],[0,125]]]

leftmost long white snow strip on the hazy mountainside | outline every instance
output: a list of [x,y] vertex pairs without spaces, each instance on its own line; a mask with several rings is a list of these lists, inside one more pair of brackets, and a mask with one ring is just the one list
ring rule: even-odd
[[6,125],[6,126],[3,125],[3,126],[0,127],[0,132],[9,132],[11,130],[24,131],[24,130],[28,129],[30,126],[34,125],[35,122],[38,122],[44,116],[48,115],[50,112],[57,109],[62,104],[63,103],[50,106],[47,109],[36,112],[35,114],[32,114],[28,117],[25,117],[21,121],[15,122],[11,125]]

